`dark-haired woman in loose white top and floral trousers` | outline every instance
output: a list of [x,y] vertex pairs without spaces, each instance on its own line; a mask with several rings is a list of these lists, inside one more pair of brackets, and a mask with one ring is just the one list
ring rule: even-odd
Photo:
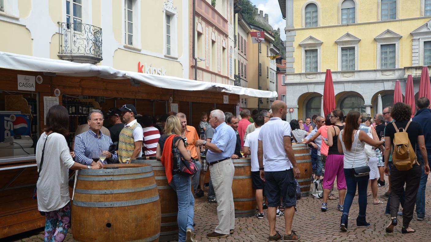
[[[63,241],[70,227],[69,169],[99,169],[72,159],[65,136],[69,133],[69,113],[54,105],[47,115],[47,127],[36,146],[37,209],[45,215],[45,241]],[[43,163],[41,167],[41,160]]]

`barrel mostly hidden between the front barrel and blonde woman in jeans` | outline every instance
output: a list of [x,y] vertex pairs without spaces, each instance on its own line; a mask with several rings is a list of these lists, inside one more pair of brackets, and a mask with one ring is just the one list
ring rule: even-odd
[[162,211],[162,222],[160,223],[160,242],[178,240],[178,199],[177,193],[169,186],[166,180],[165,167],[157,160],[132,160],[132,164],[151,164],[153,166],[154,178],[156,178],[159,190],[160,209]]

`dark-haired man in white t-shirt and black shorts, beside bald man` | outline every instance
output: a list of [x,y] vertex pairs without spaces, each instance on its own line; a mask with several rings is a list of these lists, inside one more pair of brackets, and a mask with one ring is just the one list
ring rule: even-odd
[[[265,117],[261,114],[254,115],[253,117],[253,125],[256,127],[256,129],[249,133],[244,141],[244,155],[250,155],[251,157],[251,181],[253,184],[253,189],[256,189],[256,202],[257,202],[257,208],[258,213],[256,214],[256,217],[259,219],[263,219],[263,188],[265,186],[265,183],[262,179],[260,179],[260,172],[259,172],[259,160],[257,159],[257,146],[258,146],[258,140],[257,137],[259,136],[260,127],[265,124]],[[263,162],[265,165],[265,160]]]

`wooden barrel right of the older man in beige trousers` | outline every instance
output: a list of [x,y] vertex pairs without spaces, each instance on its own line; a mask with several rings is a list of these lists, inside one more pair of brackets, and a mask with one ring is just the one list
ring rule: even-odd
[[251,159],[232,159],[235,167],[232,193],[235,217],[252,217],[256,214],[256,190],[251,181]]

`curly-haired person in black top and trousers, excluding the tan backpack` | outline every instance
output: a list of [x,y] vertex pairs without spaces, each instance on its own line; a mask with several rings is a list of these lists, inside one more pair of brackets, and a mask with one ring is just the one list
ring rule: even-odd
[[[384,133],[384,173],[389,175],[390,169],[390,222],[386,227],[387,233],[394,231],[394,226],[397,226],[397,213],[400,208],[400,198],[404,193],[404,205],[403,205],[403,228],[402,233],[413,233],[416,230],[412,229],[409,224],[413,217],[413,210],[415,208],[416,195],[419,188],[419,182],[422,176],[422,167],[418,163],[417,158],[412,164],[412,168],[406,171],[400,171],[397,169],[396,160],[394,158],[395,151],[392,155],[392,166],[388,167],[390,150],[394,148],[394,136],[397,132],[406,132],[409,137],[411,147],[417,152],[421,152],[424,158],[424,171],[425,175],[430,172],[428,165],[428,155],[425,147],[425,137],[422,130],[422,125],[415,121],[410,121],[412,109],[409,105],[403,102],[397,102],[392,107],[390,115],[394,118],[393,123],[387,124]],[[399,130],[397,130],[399,129]],[[416,149],[416,144],[419,147],[419,151]],[[404,184],[406,189],[404,191]]]

